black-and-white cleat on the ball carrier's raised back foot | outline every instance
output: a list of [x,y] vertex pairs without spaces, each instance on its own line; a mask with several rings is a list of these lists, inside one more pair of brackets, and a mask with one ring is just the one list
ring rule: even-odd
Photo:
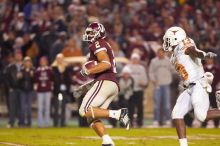
[[129,130],[130,119],[128,117],[128,109],[127,108],[122,108],[121,109],[121,114],[120,114],[120,117],[119,117],[119,121],[123,124],[123,126],[126,127],[126,130]]

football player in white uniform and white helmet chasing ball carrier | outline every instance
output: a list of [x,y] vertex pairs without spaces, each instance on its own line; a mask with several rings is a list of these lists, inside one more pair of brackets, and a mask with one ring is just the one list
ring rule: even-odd
[[213,75],[205,73],[201,61],[217,55],[197,49],[194,41],[180,27],[169,28],[163,37],[164,51],[172,52],[171,63],[183,80],[185,90],[179,95],[172,111],[180,146],[188,146],[184,116],[194,109],[200,121],[220,118],[220,110],[209,109],[209,92]]

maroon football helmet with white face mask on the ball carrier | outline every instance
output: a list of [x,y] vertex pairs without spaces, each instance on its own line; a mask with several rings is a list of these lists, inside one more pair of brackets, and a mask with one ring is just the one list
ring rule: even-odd
[[94,42],[100,38],[105,38],[105,27],[98,22],[90,23],[83,35],[83,41]]

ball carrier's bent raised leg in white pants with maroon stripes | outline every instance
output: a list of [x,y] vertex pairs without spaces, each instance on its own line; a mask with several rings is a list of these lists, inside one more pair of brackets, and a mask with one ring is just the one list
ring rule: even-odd
[[[116,120],[120,120],[122,117],[128,114],[127,110],[107,110],[99,108],[109,97],[117,95],[117,93],[118,87],[116,83],[111,81],[96,82],[83,99],[83,102],[79,109],[80,115],[86,118],[93,119],[110,117]],[[127,121],[125,122],[128,123]]]

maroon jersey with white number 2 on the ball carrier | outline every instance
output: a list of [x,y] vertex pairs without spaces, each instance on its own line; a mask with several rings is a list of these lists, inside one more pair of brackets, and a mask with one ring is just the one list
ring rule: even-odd
[[108,54],[108,57],[109,57],[110,63],[111,63],[110,69],[108,69],[104,72],[95,74],[95,80],[97,80],[97,81],[110,80],[110,81],[117,83],[117,79],[115,76],[115,74],[117,73],[116,72],[115,57],[114,57],[113,50],[112,50],[111,46],[109,45],[109,43],[106,42],[104,39],[98,39],[97,41],[95,41],[89,45],[89,50],[90,50],[89,61],[90,60],[98,61],[98,59],[96,57],[96,53],[105,50]]

